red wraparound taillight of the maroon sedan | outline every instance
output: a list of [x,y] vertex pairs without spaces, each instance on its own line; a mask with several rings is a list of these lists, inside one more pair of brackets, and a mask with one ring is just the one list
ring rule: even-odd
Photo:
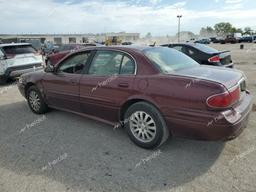
[[212,108],[227,108],[239,101],[240,88],[239,86],[233,90],[213,95],[207,99],[207,105]]

